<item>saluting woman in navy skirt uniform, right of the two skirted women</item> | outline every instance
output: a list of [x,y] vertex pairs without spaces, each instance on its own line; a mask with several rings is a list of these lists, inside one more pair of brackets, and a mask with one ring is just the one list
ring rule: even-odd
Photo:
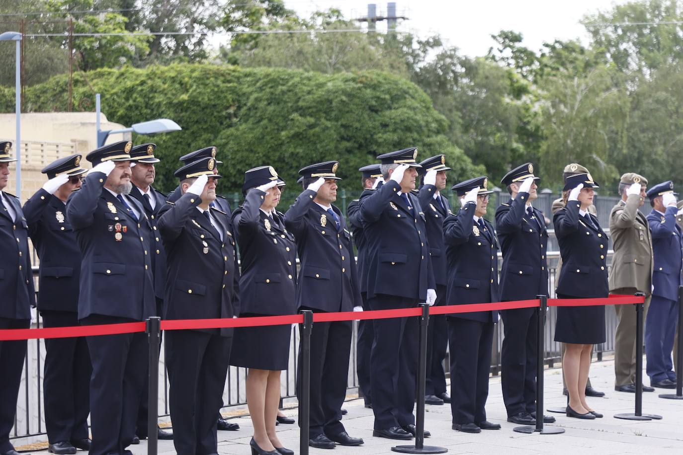
[[[555,213],[555,235],[562,256],[557,282],[560,299],[607,297],[607,235],[598,218],[588,213],[594,188],[600,188],[589,173],[567,177],[562,197],[565,206]],[[555,341],[567,344],[562,366],[569,392],[567,417],[595,419],[602,414],[586,403],[586,381],[591,365],[591,347],[605,341],[604,306],[559,306]]]

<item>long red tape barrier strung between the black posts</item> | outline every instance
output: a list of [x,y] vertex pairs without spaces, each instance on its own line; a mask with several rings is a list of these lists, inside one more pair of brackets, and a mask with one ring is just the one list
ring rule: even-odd
[[[642,304],[645,297],[631,295],[609,295],[606,298],[597,299],[548,299],[548,306],[594,306],[594,305],[625,305]],[[457,314],[478,311],[512,310],[515,308],[537,308],[540,305],[538,299],[518,300],[514,302],[493,302],[489,304],[467,304],[432,306],[430,314]],[[373,310],[363,312],[334,312],[313,313],[314,322],[331,321],[354,321],[365,319],[389,319],[397,317],[417,317],[421,314],[420,308],[398,308],[392,310]],[[227,327],[258,327],[263,325],[301,324],[301,314],[287,314],[285,316],[262,316],[234,319],[177,319],[161,321],[162,330],[187,330],[187,329],[217,329]],[[79,325],[76,327],[50,327],[42,329],[3,329],[0,330],[0,341],[8,340],[33,340],[36,338],[68,338],[76,336],[96,336],[131,334],[145,332],[144,322],[105,324],[105,325]]]

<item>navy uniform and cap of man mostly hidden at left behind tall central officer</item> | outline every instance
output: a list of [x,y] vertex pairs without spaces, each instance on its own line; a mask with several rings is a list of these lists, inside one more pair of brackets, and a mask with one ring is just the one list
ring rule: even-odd
[[[379,164],[370,164],[359,169],[365,179],[378,179],[382,177]],[[375,190],[365,189],[359,199],[354,199],[346,209],[349,229],[353,241],[358,251],[358,276],[361,287],[361,298],[363,299],[363,310],[370,310],[367,306],[367,280],[365,278],[365,263],[367,263],[367,241],[363,233],[363,220],[361,219],[361,200]],[[358,386],[363,394],[365,405],[372,405],[372,392],[370,387],[370,352],[374,340],[374,330],[372,319],[358,321],[358,340],[356,343],[356,373],[358,375]]]

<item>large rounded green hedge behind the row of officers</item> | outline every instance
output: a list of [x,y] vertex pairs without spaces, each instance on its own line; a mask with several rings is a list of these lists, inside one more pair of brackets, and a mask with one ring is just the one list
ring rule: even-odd
[[[418,160],[447,155],[450,181],[481,175],[482,167],[449,143],[446,119],[416,85],[382,72],[318,74],[228,65],[175,64],[74,74],[76,110],[94,111],[102,94],[107,119],[126,126],[167,117],[181,132],[136,136],[158,145],[156,186],[177,185],[173,171],[184,153],[215,145],[225,163],[219,192],[239,191],[247,169],[270,164],[296,190],[299,168],[339,160],[342,188],[357,190],[357,169],[379,153],[419,147]],[[66,111],[67,78],[28,87],[26,112]],[[0,91],[0,108],[12,112],[14,91]]]

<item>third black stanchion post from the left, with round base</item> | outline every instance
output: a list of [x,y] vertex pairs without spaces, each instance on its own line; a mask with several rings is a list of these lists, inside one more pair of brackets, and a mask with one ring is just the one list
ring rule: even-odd
[[427,330],[429,325],[429,305],[420,304],[418,357],[417,357],[417,410],[415,414],[415,445],[396,445],[393,452],[402,454],[445,454],[448,449],[434,445],[424,445],[425,430],[425,382],[427,377]]

